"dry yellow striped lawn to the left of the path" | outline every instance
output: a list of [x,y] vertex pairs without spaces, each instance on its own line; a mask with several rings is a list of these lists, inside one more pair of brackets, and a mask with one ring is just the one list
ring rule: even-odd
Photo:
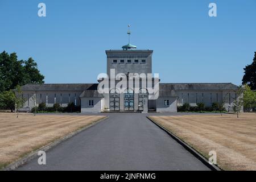
[[88,126],[99,115],[32,115],[0,113],[0,169],[53,140]]

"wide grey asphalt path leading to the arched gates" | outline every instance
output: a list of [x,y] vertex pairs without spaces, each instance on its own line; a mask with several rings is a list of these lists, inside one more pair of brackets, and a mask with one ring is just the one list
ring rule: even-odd
[[[113,113],[18,170],[209,170],[146,118]],[[155,115],[155,114],[154,114]]]

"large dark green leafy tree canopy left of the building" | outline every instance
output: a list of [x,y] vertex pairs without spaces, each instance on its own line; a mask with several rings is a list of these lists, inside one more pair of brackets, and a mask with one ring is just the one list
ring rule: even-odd
[[17,85],[43,84],[44,76],[32,59],[18,60],[16,53],[0,53],[0,92],[14,89]]

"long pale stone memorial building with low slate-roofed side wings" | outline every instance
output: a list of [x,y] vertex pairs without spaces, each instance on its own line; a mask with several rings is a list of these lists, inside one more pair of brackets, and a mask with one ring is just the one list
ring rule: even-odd
[[[135,49],[106,51],[106,73],[110,76],[110,69],[113,68],[115,74],[152,73],[152,53],[151,50]],[[139,85],[142,87],[141,82]],[[214,102],[218,102],[224,103],[225,109],[230,111],[238,97],[236,96],[238,86],[231,83],[159,84],[157,100],[150,100],[145,94],[132,92],[111,94],[109,90],[110,94],[100,94],[97,92],[97,86],[98,84],[27,84],[22,87],[23,98],[26,101],[24,108],[32,108],[42,102],[49,107],[56,103],[65,107],[73,102],[81,106],[82,113],[102,111],[176,113],[177,106],[184,103],[196,106],[203,102],[205,106],[211,106]]]

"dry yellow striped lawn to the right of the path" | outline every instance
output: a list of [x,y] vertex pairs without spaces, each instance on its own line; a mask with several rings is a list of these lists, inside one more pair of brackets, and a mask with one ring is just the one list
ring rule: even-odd
[[256,114],[150,117],[225,170],[256,170]]

